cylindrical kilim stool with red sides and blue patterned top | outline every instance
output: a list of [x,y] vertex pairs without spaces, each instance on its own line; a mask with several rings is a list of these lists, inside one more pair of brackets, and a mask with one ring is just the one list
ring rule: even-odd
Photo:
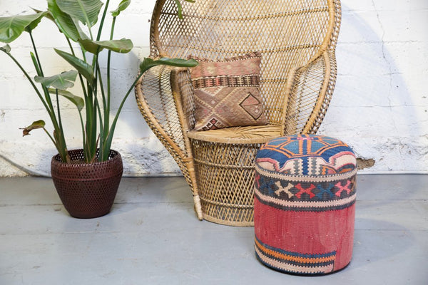
[[356,159],[340,140],[292,135],[255,158],[255,253],[294,274],[327,274],[350,263]]

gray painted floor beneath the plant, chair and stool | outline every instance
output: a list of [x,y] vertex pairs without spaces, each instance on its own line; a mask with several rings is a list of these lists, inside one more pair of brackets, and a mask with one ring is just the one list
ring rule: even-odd
[[[428,175],[360,175],[351,264],[260,264],[253,228],[199,222],[183,177],[123,178],[112,212],[74,219],[47,178],[0,178],[0,284],[428,284]],[[303,282],[303,283],[302,283]]]

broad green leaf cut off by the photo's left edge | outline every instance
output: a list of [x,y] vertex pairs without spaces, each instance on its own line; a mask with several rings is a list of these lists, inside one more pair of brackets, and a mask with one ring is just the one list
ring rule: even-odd
[[11,43],[16,38],[21,36],[26,27],[35,28],[39,24],[44,13],[31,15],[10,16],[0,18],[0,41]]

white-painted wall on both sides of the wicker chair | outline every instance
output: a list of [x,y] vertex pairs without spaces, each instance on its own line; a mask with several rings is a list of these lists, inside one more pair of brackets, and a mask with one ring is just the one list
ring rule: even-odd
[[[111,1],[112,9],[119,2]],[[131,84],[138,61],[148,56],[154,4],[155,0],[133,0],[118,19],[116,35],[131,38],[135,48],[113,58],[115,103]],[[29,14],[29,6],[44,9],[46,4],[44,0],[0,0],[0,16]],[[34,38],[45,73],[68,70],[51,48],[66,48],[66,42],[49,21],[41,22]],[[21,36],[11,47],[30,69],[28,36]],[[41,131],[22,138],[18,129],[33,120],[47,122],[47,115],[29,83],[3,53],[0,63],[0,176],[49,175],[54,146]],[[374,160],[374,166],[362,173],[427,172],[428,1],[342,1],[337,65],[335,95],[319,133],[342,138],[359,157]],[[66,105],[63,114],[69,148],[79,147],[76,110]],[[133,96],[121,114],[113,148],[123,155],[124,175],[179,173],[144,122]]]

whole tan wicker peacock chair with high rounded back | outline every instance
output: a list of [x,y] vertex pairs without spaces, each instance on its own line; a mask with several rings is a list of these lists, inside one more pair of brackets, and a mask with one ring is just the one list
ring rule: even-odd
[[268,125],[193,131],[195,103],[186,68],[152,68],[136,98],[148,125],[190,185],[199,219],[253,225],[253,160],[261,144],[316,133],[336,80],[339,0],[158,0],[151,58],[221,60],[262,55],[260,93]]

